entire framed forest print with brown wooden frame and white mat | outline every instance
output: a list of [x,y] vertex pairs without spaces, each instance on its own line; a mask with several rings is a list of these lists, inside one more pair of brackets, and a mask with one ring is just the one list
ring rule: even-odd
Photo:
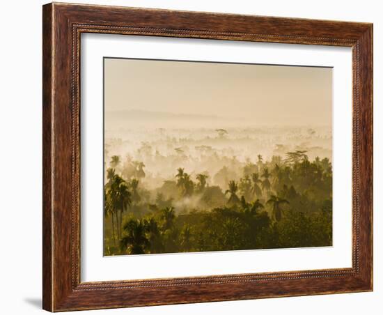
[[43,308],[373,290],[373,25],[43,6]]

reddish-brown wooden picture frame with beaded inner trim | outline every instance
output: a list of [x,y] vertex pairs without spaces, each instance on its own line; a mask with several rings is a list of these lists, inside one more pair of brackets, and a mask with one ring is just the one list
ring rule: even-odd
[[[43,6],[43,308],[51,312],[373,290],[373,24]],[[352,268],[80,282],[80,35],[352,47]]]

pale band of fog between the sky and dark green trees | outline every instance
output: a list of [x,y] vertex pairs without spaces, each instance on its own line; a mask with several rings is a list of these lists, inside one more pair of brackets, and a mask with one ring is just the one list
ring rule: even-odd
[[238,180],[246,164],[257,164],[259,159],[281,163],[289,151],[307,151],[310,160],[318,156],[327,157],[331,162],[329,127],[251,127],[240,122],[233,127],[220,119],[198,116],[194,118],[199,123],[194,125],[203,126],[192,127],[190,117],[173,117],[171,122],[166,119],[164,123],[157,115],[152,122],[149,117],[140,123],[139,116],[136,113],[126,119],[122,115],[120,124],[114,117],[113,127],[105,128],[105,171],[113,155],[120,157],[117,171],[129,172],[128,165],[132,162],[143,162],[141,168],[145,176],[140,176],[140,180],[149,190],[161,187],[164,180],[175,180],[179,167],[192,178],[196,174],[207,174],[209,185],[226,187],[225,179],[220,176],[222,169],[226,168],[228,177]]

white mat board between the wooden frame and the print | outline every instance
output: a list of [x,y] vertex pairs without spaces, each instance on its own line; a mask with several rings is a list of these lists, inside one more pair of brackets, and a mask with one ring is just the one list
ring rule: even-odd
[[[198,47],[198,49],[196,49]],[[331,66],[333,72],[333,246],[134,256],[102,256],[104,56]],[[352,54],[349,47],[223,40],[81,36],[81,281],[273,272],[352,265]],[[98,196],[98,197],[97,197]],[[129,266],[127,268],[127,266]]]

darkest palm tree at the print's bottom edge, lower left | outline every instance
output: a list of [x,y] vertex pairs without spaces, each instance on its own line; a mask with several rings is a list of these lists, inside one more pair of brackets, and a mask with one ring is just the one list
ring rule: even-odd
[[145,236],[145,224],[140,220],[129,220],[124,224],[125,236],[121,238],[121,249],[127,249],[128,254],[145,254],[150,245]]

